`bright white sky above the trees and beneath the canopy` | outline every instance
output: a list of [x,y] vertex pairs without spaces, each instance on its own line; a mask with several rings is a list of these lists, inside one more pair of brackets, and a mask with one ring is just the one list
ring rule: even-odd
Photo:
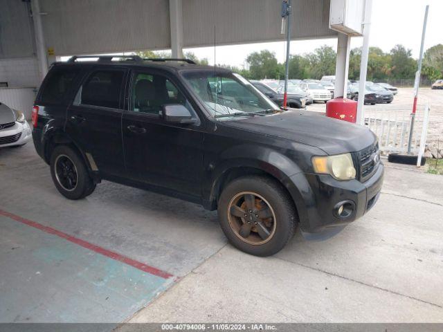
[[[413,51],[413,57],[419,57],[420,41],[425,6],[430,5],[424,50],[436,44],[443,44],[443,0],[373,0],[370,46],[377,46],[389,52],[396,44],[403,44]],[[309,53],[322,45],[336,49],[337,39],[316,39],[291,42],[291,54]],[[352,37],[351,47],[360,47],[363,38]],[[279,62],[284,62],[286,53],[284,42],[217,46],[215,52],[217,64],[244,66],[249,53],[271,50]],[[214,48],[189,48],[197,57],[206,57],[209,64],[214,64]],[[185,50],[185,51],[186,51]]]

